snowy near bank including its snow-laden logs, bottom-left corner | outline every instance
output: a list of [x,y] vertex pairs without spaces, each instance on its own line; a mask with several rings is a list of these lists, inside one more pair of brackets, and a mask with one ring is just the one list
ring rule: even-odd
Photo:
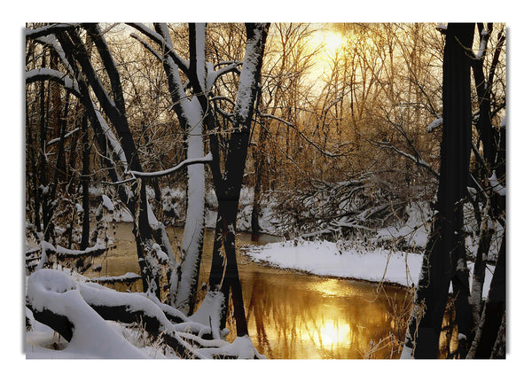
[[[90,283],[86,277],[68,269],[38,269],[27,277],[26,285],[27,304],[32,307],[32,310],[25,308],[27,326],[31,327],[26,331],[27,358],[181,358],[161,340],[162,333],[184,347],[193,358],[207,359],[223,355],[264,358],[254,349],[249,336],[238,337],[230,343],[224,340],[229,330],[221,330],[219,325],[213,324],[220,321],[220,306],[223,304],[221,292],[207,293],[198,311],[186,317],[177,309],[160,303],[154,296],[117,292]],[[107,321],[93,306],[105,307],[107,312],[123,309],[129,314],[140,315],[144,323],[147,323],[146,319],[152,320],[157,323],[152,324],[152,330],[160,331],[160,335],[154,340],[137,324]],[[35,320],[33,312],[41,312],[50,323],[63,328],[66,337],[70,335],[71,338],[66,341],[59,337],[51,327]],[[183,322],[170,322],[167,314],[180,317]],[[65,321],[67,324],[62,324]],[[65,327],[69,327],[70,331]],[[214,339],[202,339],[202,333],[212,334]],[[192,339],[202,347],[193,346],[186,339]]]

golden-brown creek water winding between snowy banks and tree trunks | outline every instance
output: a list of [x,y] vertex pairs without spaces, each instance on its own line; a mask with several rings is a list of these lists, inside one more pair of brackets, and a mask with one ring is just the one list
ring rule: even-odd
[[[101,270],[90,269],[85,276],[139,274],[131,228],[130,223],[115,225],[116,247],[93,261],[101,264]],[[169,227],[167,232],[173,244],[183,235],[180,228]],[[280,359],[398,358],[396,339],[404,333],[407,312],[404,288],[274,269],[244,254],[246,245],[277,240],[261,235],[258,242],[252,242],[250,234],[237,235],[249,335],[262,355]],[[207,230],[200,285],[208,279],[213,241],[214,231]],[[140,281],[109,286],[121,291],[142,289]],[[228,327],[232,325],[230,319]]]

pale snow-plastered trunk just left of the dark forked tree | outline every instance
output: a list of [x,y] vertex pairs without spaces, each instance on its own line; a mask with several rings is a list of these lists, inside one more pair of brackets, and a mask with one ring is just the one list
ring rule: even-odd
[[[205,27],[205,24],[192,24],[190,28],[191,64],[187,74],[195,93],[203,93],[207,86]],[[155,30],[165,44],[162,61],[174,103],[172,108],[186,135],[187,160],[201,158],[204,156],[205,128],[200,102],[197,96],[189,98],[184,92],[178,65],[170,54],[175,52],[168,27],[165,24],[155,24]],[[200,163],[187,168],[187,211],[181,246],[181,264],[179,268],[172,270],[168,292],[169,304],[189,315],[194,309],[203,252],[206,195],[204,166]]]

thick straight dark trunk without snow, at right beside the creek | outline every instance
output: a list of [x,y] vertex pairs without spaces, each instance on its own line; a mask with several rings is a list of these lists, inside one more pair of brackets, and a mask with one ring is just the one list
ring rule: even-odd
[[[458,287],[458,326],[465,331],[470,316],[466,303],[464,216],[471,152],[471,91],[468,48],[473,43],[473,24],[450,24],[443,53],[443,136],[440,183],[435,215],[423,260],[406,347],[415,358],[437,358],[442,318],[450,281]],[[468,334],[468,331],[465,332]]]

